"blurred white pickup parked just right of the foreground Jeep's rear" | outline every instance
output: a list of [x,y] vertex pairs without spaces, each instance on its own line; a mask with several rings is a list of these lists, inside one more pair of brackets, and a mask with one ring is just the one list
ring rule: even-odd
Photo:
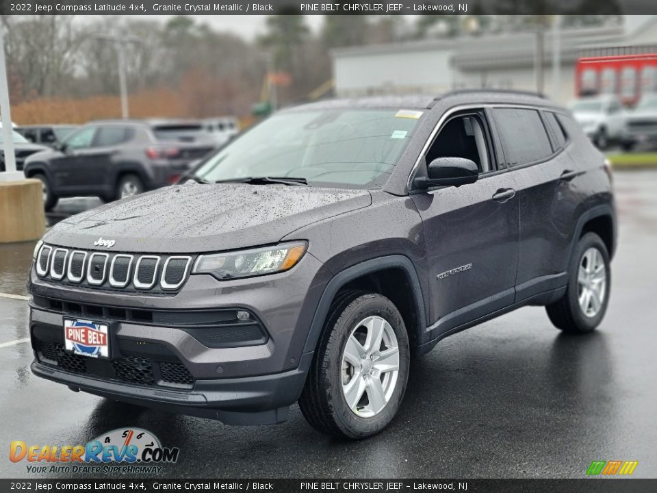
[[627,114],[617,97],[584,97],[573,101],[569,109],[598,149],[621,141]]

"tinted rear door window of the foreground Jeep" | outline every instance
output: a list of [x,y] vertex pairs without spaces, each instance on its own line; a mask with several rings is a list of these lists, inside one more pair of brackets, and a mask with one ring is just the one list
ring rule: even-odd
[[497,108],[494,114],[508,166],[543,160],[552,154],[537,110]]

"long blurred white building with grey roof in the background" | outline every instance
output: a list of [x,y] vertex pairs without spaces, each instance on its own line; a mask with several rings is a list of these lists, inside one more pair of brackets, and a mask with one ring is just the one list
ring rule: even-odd
[[[455,88],[538,90],[537,35],[461,37],[350,47],[333,51],[339,97]],[[543,36],[543,92],[561,103],[574,97],[575,65],[582,56],[657,52],[657,16],[624,16],[619,26],[563,29],[558,88],[552,87],[552,31]]]

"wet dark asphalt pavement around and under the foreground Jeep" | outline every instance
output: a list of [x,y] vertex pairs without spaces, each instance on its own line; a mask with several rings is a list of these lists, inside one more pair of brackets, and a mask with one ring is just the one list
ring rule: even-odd
[[[0,295],[0,477],[35,477],[6,458],[12,440],[86,443],[118,427],[181,449],[164,477],[583,477],[615,459],[657,477],[657,172],[615,183],[620,240],[599,331],[563,336],[527,307],[447,338],[413,364],[394,422],[362,442],[316,433],[296,406],[282,425],[228,427],[70,392],[31,375],[28,343],[6,344],[27,337],[27,301]],[[64,201],[49,219],[90,205]],[[0,245],[0,293],[25,295],[33,246]]]

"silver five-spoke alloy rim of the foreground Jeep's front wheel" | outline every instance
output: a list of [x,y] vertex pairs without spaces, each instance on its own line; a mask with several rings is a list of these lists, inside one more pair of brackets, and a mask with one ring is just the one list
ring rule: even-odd
[[361,418],[380,413],[390,400],[399,375],[399,346],[391,325],[368,316],[351,331],[342,354],[342,392]]

